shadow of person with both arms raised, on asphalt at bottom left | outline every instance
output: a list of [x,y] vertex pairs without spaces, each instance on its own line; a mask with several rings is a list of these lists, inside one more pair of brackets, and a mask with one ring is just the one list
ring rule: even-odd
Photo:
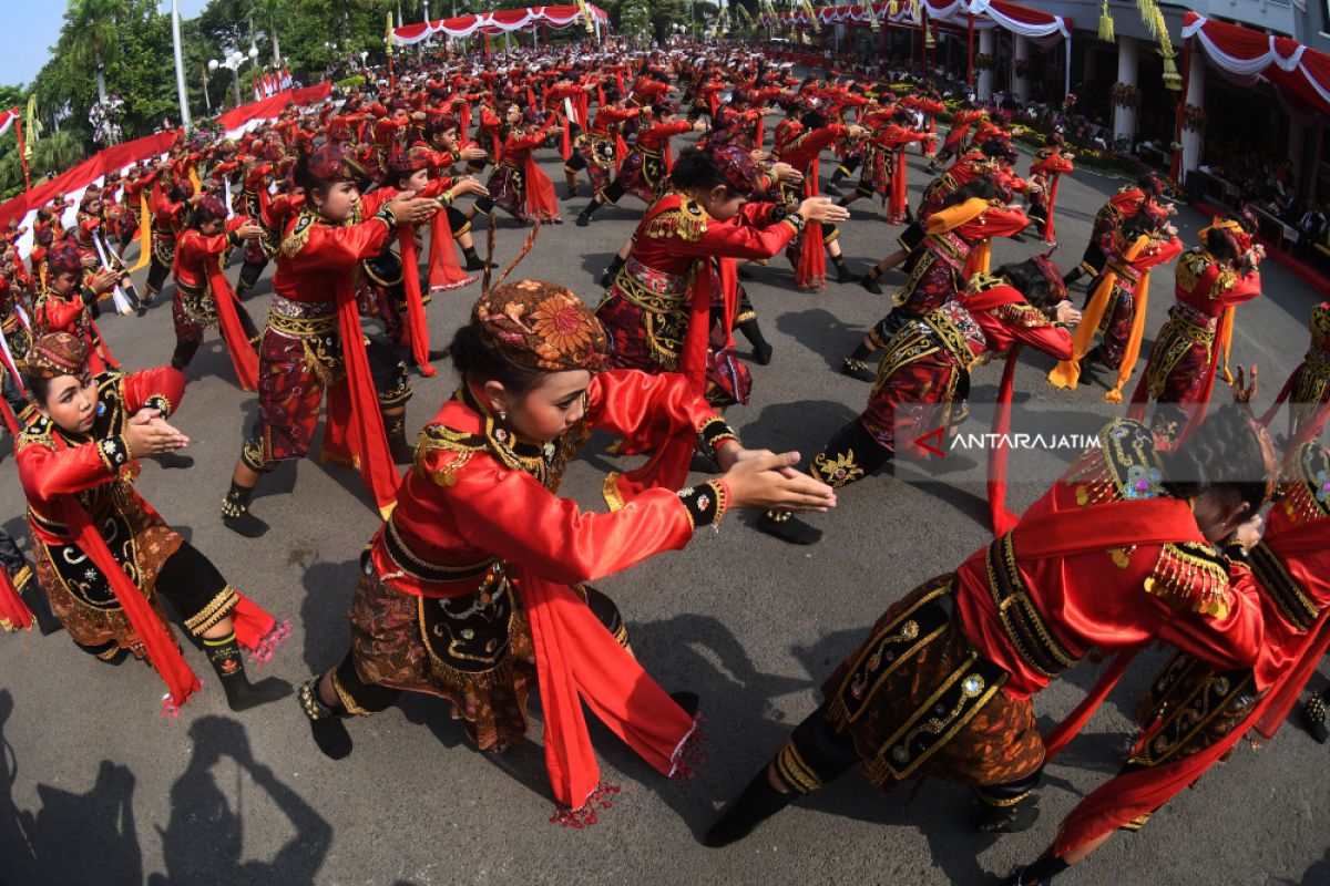
[[[166,830],[157,829],[166,874],[150,875],[148,886],[315,882],[332,842],[332,826],[271,769],[254,760],[245,727],[237,720],[200,717],[189,733],[194,756],[172,786]],[[230,766],[217,770],[223,758],[241,770],[234,774],[230,792],[222,790],[221,777],[230,777],[233,770]],[[235,797],[234,808],[227,793]],[[275,805],[295,834],[270,861],[242,861],[245,808],[259,802]],[[100,854],[97,858],[102,861]]]

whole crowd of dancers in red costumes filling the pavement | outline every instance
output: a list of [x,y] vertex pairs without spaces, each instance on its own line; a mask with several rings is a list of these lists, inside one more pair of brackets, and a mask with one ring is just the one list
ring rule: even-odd
[[[31,561],[0,537],[5,627],[64,630],[105,662],[146,659],[168,715],[200,687],[182,630],[233,709],[294,695],[332,758],[351,754],[350,720],[402,692],[446,699],[476,748],[499,753],[527,733],[535,689],[556,820],[584,826],[616,790],[600,778],[584,705],[660,773],[684,778],[700,761],[701,704],[658,687],[613,600],[588,582],[688,546],[737,507],[759,510],[765,533],[817,543],[841,489],[886,466],[914,432],[964,420],[971,377],[995,356],[1005,361],[1003,414],[1029,347],[1057,361],[1048,383],[1059,388],[1108,372],[1104,399],[1125,395],[1125,414],[1020,515],[1005,507],[1003,458],[991,460],[992,543],[887,608],[705,843],[742,840],[853,766],[883,789],[915,773],[967,785],[972,826],[1029,828],[1047,762],[1137,650],[1170,644],[1119,773],[1009,879],[1047,882],[1113,830],[1138,829],[1252,729],[1274,735],[1294,708],[1330,644],[1330,454],[1319,442],[1330,306],[1313,310],[1306,359],[1254,414],[1256,368],[1228,367],[1236,310],[1261,295],[1250,219],[1216,218],[1188,246],[1162,179],[1146,175],[1112,195],[1064,274],[1047,247],[1075,157],[1056,133],[1021,177],[1000,112],[963,102],[943,137],[948,106],[927,84],[801,76],[738,46],[547,48],[382,74],[235,139],[182,138],[77,206],[57,197],[37,210],[31,247],[11,224],[0,410]],[[672,139],[690,145],[672,150]],[[914,207],[911,149],[935,175]],[[563,157],[561,198],[537,154]],[[830,195],[819,193],[822,159],[835,163]],[[536,236],[567,235],[548,226],[564,221],[561,199],[580,198],[583,174],[591,194],[577,226],[628,197],[644,210],[602,292],[509,280]],[[883,221],[906,227],[861,274],[838,223],[872,197]],[[499,210],[531,230],[496,224]],[[496,236],[525,238],[504,270],[489,260]],[[1044,246],[994,267],[994,238]],[[863,412],[805,465],[741,442],[724,420],[773,359],[745,266],[782,252],[801,290],[829,286],[829,263],[831,284],[895,287],[891,310],[841,364],[871,384]],[[258,324],[246,299],[270,263]],[[130,275],[145,264],[140,291]],[[1128,392],[1150,270],[1164,264],[1174,266],[1174,303]],[[1077,308],[1069,288],[1083,280]],[[469,321],[432,349],[431,298],[476,283]],[[142,316],[168,288],[170,367],[125,368],[97,320]],[[290,622],[229,584],[133,487],[141,458],[192,466],[172,421],[182,371],[213,328],[234,383],[258,399],[253,426],[237,429],[218,519],[249,538],[270,531],[254,490],[310,453],[321,413],[321,457],[358,470],[383,519],[360,558],[350,647],[326,650],[330,667],[298,687],[250,681],[242,652],[266,660]],[[757,369],[738,359],[735,331]],[[440,359],[456,392],[423,429],[408,428],[411,372],[434,375]],[[1234,402],[1206,409],[1216,377]],[[1266,426],[1285,404],[1275,442]],[[617,434],[617,454],[648,456],[605,478],[602,513],[559,497],[592,429]],[[710,478],[689,486],[700,462]],[[1091,652],[1115,658],[1041,736],[1033,696]],[[1327,695],[1298,708],[1322,743]]]

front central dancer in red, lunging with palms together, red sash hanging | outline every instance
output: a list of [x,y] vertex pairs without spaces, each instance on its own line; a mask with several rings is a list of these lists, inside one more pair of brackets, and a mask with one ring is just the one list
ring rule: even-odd
[[[476,303],[450,353],[460,387],[420,433],[398,506],[362,558],[351,648],[299,692],[315,743],[351,752],[340,717],[402,692],[450,700],[481,751],[528,729],[539,687],[556,821],[596,821],[606,793],[585,703],[652,768],[689,777],[698,699],[666,695],[626,651],[618,608],[584,584],[688,545],[734,507],[835,503],[789,470],[794,453],[746,450],[678,375],[605,371],[608,343],[583,302],[539,280]],[[642,424],[714,452],[726,473],[649,489],[612,514],[559,498],[564,466],[593,428]]]

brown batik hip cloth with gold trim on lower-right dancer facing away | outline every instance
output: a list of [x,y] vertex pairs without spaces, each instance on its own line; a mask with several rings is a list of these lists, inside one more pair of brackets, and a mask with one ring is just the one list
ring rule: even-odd
[[833,729],[850,732],[883,790],[914,773],[1005,785],[1043,765],[1033,707],[1003,692],[1009,675],[970,643],[951,603],[955,580],[940,575],[891,606],[822,684]]

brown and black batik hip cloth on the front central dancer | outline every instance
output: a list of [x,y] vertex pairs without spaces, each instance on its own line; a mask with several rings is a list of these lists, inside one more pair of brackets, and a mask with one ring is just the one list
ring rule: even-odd
[[[394,590],[362,570],[351,603],[351,660],[366,684],[424,692],[456,705],[481,751],[501,751],[525,735],[536,654],[521,599],[496,567],[475,592],[448,599]],[[618,610],[595,588],[573,587],[628,646]],[[352,687],[334,687],[347,711],[370,715]]]

